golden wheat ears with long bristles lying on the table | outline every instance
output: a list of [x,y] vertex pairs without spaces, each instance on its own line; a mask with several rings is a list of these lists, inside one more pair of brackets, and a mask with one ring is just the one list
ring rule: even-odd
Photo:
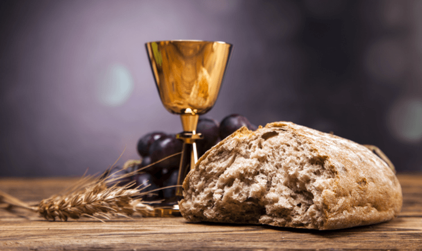
[[[170,155],[160,161],[178,154],[180,153]],[[148,168],[156,163],[152,163],[144,168]],[[125,167],[128,168],[128,165],[125,164]],[[115,216],[154,216],[154,207],[144,203],[142,196],[159,189],[143,192],[142,190],[148,186],[141,188],[143,185],[141,184],[138,187],[131,188],[135,182],[130,182],[125,186],[118,186],[116,182],[132,176],[142,171],[142,169],[126,174],[118,174],[118,172],[112,174],[111,169],[107,169],[102,175],[97,177],[84,175],[63,193],[44,199],[36,206],[31,206],[1,191],[0,202],[35,211],[47,220],[53,221],[56,218],[67,221],[68,218],[79,219],[85,216],[104,222],[103,219],[109,220]]]

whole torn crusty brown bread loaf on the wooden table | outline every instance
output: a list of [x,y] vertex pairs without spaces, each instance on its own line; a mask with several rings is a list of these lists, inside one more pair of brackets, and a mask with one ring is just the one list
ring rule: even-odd
[[239,129],[198,160],[183,189],[188,221],[339,229],[390,220],[402,205],[378,156],[292,122]]

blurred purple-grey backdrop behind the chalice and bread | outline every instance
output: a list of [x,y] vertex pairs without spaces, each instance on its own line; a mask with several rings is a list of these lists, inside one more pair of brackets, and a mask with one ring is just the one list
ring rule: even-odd
[[0,176],[79,176],[178,133],[144,43],[235,45],[214,108],[378,146],[422,172],[422,1],[0,1]]

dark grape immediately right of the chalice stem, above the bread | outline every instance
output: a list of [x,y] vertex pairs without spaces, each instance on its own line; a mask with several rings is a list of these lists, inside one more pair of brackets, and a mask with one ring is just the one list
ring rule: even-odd
[[196,141],[199,156],[202,156],[220,141],[219,123],[212,118],[200,117],[196,132],[201,133],[203,136],[202,140]]

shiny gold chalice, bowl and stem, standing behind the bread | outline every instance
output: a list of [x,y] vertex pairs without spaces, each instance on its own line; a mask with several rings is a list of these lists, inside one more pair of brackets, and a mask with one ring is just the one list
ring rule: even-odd
[[[198,160],[195,141],[198,117],[215,104],[233,46],[197,40],[156,41],[145,44],[155,83],[164,107],[180,114],[183,141],[176,187],[177,200],[190,167]],[[177,206],[176,206],[177,207]]]

